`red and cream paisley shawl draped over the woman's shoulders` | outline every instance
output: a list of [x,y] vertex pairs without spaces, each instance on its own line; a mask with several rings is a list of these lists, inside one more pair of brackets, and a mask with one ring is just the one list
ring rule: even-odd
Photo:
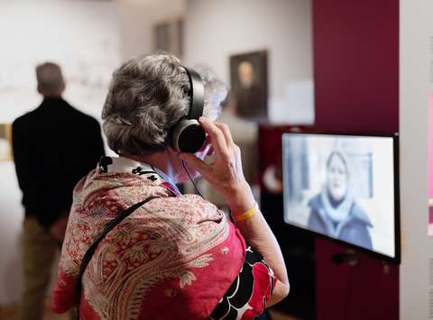
[[176,187],[161,171],[106,159],[74,190],[53,310],[74,305],[79,263],[106,223],[156,196],[99,244],[82,280],[81,318],[207,318],[243,265],[244,238],[201,197],[175,197]]

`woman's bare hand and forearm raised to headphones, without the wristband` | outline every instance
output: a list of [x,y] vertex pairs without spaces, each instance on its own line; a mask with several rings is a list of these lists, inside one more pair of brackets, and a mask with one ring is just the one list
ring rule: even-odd
[[[226,197],[232,215],[246,212],[254,206],[255,200],[251,187],[244,178],[239,147],[233,142],[226,124],[212,123],[203,117],[198,122],[210,136],[215,159],[212,163],[207,164],[190,153],[180,153],[180,159],[185,160],[190,167],[200,172],[213,187]],[[272,306],[286,297],[290,289],[280,245],[257,207],[252,217],[238,221],[236,225],[244,235],[245,241],[262,253],[278,279],[272,297],[267,303],[267,306]]]

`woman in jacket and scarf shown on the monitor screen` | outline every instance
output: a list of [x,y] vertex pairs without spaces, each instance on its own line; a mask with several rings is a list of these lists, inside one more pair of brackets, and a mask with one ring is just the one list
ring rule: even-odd
[[321,192],[309,200],[309,229],[372,249],[372,227],[364,209],[357,204],[349,185],[349,168],[340,151],[327,157],[327,180]]

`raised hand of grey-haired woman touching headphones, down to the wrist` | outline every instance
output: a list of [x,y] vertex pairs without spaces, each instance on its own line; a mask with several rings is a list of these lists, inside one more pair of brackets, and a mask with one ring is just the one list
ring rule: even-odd
[[190,153],[180,153],[180,159],[197,170],[226,198],[233,213],[243,213],[253,206],[254,198],[244,178],[241,151],[233,142],[226,124],[213,123],[204,117],[200,117],[198,122],[210,136],[214,161],[207,164]]

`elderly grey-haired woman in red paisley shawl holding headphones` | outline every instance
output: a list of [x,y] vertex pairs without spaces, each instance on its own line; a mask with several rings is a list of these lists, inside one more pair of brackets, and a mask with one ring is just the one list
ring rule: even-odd
[[[252,319],[288,294],[279,245],[245,182],[239,148],[225,124],[210,121],[226,89],[209,72],[200,77],[207,139],[192,154],[170,138],[194,95],[180,61],[149,55],[115,71],[103,127],[119,157],[103,158],[74,190],[55,312],[78,303],[81,319]],[[199,174],[226,197],[235,224],[202,197],[180,194],[176,184]]]

